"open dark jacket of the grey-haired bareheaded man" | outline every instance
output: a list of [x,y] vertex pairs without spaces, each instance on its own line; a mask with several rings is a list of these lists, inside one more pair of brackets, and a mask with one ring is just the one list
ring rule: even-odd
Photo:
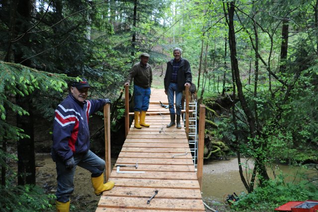
[[[164,75],[164,90],[167,91],[170,81],[171,81],[171,74],[173,71],[173,60],[170,60],[167,63],[167,69],[165,71],[165,75]],[[191,68],[190,68],[190,63],[186,60],[181,58],[180,61],[180,66],[177,72],[177,83],[178,83],[178,88],[179,90],[184,90],[184,84],[188,82],[190,84],[192,84],[192,74],[191,74]]]

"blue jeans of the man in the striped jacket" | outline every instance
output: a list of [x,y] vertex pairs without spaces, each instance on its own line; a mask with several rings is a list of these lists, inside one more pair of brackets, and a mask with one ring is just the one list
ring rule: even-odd
[[[91,177],[100,176],[105,169],[105,161],[88,150],[83,154],[74,155],[75,165],[78,165],[91,172]],[[56,191],[56,200],[62,203],[70,201],[70,195],[74,191],[74,175],[76,166],[73,169],[67,169],[65,162],[56,158],[56,171],[58,188]]]

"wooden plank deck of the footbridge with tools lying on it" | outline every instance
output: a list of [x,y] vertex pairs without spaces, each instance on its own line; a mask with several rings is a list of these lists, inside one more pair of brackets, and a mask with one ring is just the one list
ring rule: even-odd
[[[152,90],[150,101],[150,112],[167,114],[168,109],[159,105],[159,101],[167,104],[163,89]],[[205,212],[184,128],[166,128],[169,115],[146,116],[146,123],[151,126],[140,130],[132,123],[115,164],[138,162],[137,169],[120,167],[120,171],[145,173],[117,173],[114,167],[110,180],[115,187],[103,193],[96,212]],[[147,204],[155,190],[158,194]]]

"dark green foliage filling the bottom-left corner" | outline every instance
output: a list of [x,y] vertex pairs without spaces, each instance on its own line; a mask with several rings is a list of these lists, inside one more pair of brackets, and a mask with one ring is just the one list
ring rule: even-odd
[[37,186],[0,187],[1,212],[47,212],[52,210],[55,195],[46,195]]

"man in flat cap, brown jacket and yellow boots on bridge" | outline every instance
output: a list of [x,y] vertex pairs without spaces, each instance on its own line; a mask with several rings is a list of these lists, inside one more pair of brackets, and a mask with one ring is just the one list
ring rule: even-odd
[[149,58],[150,55],[148,53],[142,53],[140,55],[140,62],[136,63],[131,71],[129,71],[124,84],[129,85],[132,79],[134,79],[134,127],[137,129],[141,129],[142,126],[149,127],[149,124],[145,123],[151,94],[150,87],[153,82],[153,70],[148,64]]

